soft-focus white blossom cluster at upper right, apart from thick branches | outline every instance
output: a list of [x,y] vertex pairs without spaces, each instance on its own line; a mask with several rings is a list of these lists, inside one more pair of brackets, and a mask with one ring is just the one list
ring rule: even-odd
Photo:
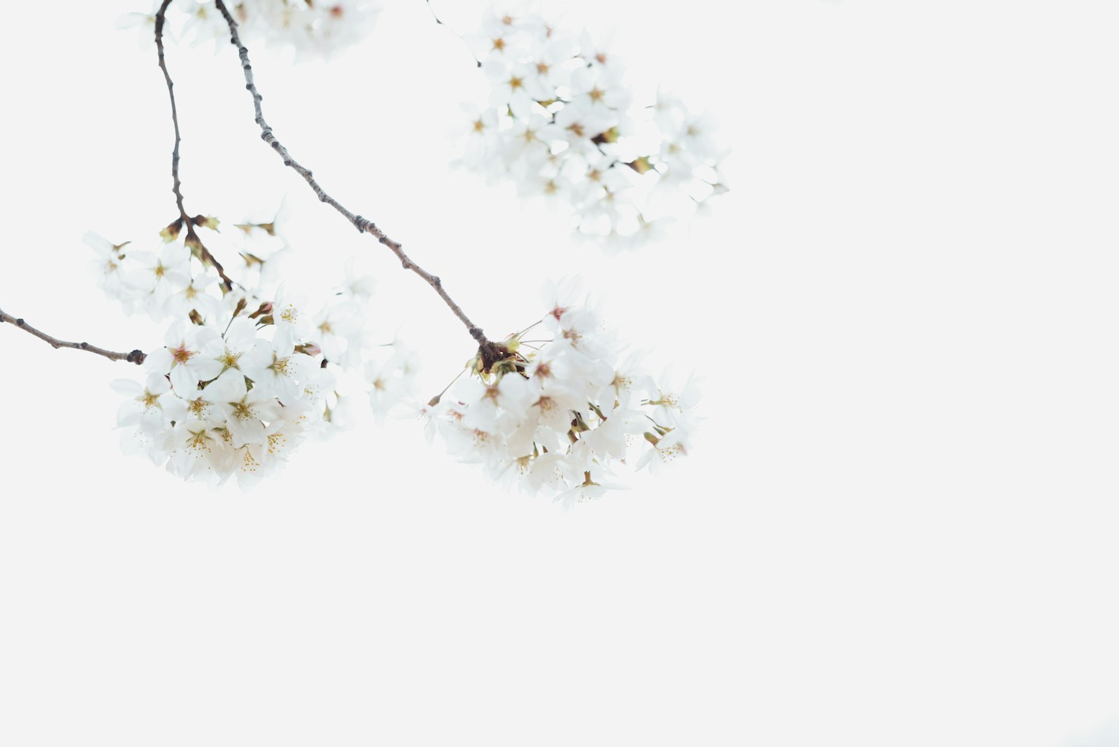
[[463,105],[463,166],[565,201],[608,248],[640,246],[726,191],[709,116],[660,92],[634,102],[609,48],[508,4],[467,37],[490,97]]

